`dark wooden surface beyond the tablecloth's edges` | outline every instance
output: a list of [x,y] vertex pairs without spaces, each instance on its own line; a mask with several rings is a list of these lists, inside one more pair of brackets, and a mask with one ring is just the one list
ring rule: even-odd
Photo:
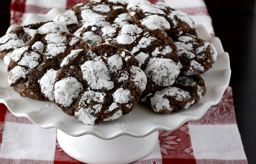
[[[236,119],[249,164],[256,164],[256,3],[205,0],[215,35],[230,55],[230,86]],[[0,36],[9,27],[10,0],[0,0]]]

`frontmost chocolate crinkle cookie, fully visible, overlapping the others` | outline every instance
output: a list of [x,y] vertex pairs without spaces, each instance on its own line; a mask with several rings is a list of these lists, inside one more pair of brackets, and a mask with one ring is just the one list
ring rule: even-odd
[[130,113],[146,86],[138,60],[109,44],[83,50],[63,61],[54,84],[55,104],[84,124]]

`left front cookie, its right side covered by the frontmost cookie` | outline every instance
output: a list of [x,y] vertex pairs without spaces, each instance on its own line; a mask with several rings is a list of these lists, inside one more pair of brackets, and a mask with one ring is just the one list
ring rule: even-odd
[[86,42],[70,33],[36,33],[11,53],[9,84],[21,96],[53,101],[52,87],[60,62],[76,49],[88,48]]

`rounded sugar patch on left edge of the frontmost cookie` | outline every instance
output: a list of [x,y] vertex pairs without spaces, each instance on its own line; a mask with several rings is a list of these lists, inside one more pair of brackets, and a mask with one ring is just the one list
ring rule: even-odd
[[55,102],[62,106],[70,106],[82,91],[82,84],[76,78],[65,78],[54,84]]

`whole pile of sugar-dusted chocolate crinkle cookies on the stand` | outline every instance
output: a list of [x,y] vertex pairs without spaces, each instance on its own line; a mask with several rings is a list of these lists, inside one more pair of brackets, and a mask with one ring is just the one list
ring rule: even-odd
[[188,108],[204,96],[200,74],[216,56],[191,17],[147,0],[79,3],[0,38],[16,92],[90,125],[126,115],[138,101],[159,113]]

